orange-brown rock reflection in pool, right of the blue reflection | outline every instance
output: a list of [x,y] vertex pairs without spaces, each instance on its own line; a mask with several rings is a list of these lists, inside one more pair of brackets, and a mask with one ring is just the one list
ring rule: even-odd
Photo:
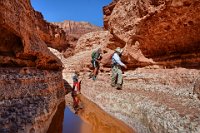
[[96,104],[81,96],[84,108],[78,115],[92,125],[93,133],[133,133],[134,131],[122,121],[110,116]]

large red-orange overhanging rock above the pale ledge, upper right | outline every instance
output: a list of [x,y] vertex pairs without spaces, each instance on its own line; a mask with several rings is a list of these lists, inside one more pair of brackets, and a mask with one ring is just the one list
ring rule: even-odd
[[104,7],[104,27],[125,43],[134,38],[126,51],[133,58],[138,49],[159,64],[197,68],[199,11],[199,0],[118,0]]

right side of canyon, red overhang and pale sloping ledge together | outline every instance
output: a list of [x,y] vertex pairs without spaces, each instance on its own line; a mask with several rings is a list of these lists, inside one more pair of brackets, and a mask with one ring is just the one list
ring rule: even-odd
[[[200,131],[200,1],[114,0],[104,28],[80,37],[62,60],[63,77],[82,73],[82,95],[139,133]],[[122,90],[110,85],[109,55],[124,49]],[[88,79],[92,51],[102,48],[97,80]],[[56,52],[56,51],[54,51]],[[58,54],[58,53],[57,53]]]

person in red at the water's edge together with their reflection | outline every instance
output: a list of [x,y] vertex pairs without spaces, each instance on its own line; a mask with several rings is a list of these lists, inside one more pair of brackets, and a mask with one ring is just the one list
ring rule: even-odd
[[80,102],[80,84],[81,81],[78,80],[79,77],[79,73],[77,71],[75,71],[74,75],[72,76],[73,79],[73,88],[72,88],[72,98],[73,98],[73,107],[74,109],[78,109],[79,107],[79,102]]

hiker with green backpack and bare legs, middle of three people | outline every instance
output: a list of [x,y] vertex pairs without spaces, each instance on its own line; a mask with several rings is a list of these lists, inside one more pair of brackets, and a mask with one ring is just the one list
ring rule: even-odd
[[98,74],[100,59],[101,59],[101,48],[97,49],[97,51],[92,52],[91,63],[93,67],[93,73],[90,74],[90,78],[92,77],[94,81],[96,80],[96,76]]

